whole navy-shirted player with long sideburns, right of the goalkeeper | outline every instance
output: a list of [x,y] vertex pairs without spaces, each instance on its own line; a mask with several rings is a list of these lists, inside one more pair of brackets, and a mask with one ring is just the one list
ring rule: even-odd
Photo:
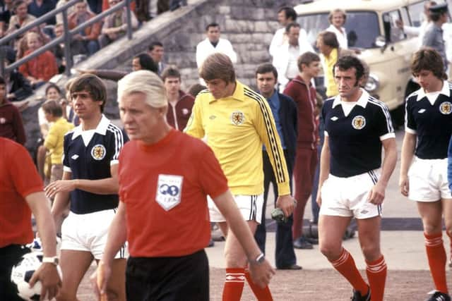
[[[325,140],[317,196],[320,250],[352,285],[352,300],[382,301],[387,268],[380,251],[381,205],[396,166],[396,136],[386,105],[359,87],[365,78],[359,59],[341,57],[334,76],[339,95],[327,99],[322,110]],[[342,246],[353,217],[370,288]]]

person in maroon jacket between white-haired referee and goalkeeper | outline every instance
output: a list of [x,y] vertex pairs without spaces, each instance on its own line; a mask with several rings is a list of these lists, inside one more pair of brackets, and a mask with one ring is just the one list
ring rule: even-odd
[[167,121],[176,130],[184,130],[195,99],[181,90],[181,73],[175,66],[165,68],[161,76],[169,104]]

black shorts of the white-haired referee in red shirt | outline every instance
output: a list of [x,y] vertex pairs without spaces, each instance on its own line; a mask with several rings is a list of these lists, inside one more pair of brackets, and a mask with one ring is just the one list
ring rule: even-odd
[[183,257],[129,257],[126,295],[128,301],[208,301],[206,252]]

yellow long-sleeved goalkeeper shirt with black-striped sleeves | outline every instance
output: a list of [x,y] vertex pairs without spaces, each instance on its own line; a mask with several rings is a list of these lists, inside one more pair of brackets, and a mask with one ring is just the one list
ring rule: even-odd
[[263,193],[262,145],[273,166],[279,195],[289,195],[289,175],[268,102],[236,81],[234,94],[214,99],[198,94],[185,133],[207,140],[220,161],[233,195]]

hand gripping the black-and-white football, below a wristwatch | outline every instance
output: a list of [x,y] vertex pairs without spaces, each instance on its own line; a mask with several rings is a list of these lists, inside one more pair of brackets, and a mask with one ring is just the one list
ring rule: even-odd
[[61,288],[61,278],[59,278],[57,266],[47,262],[41,264],[40,268],[33,273],[33,276],[28,282],[30,288],[32,288],[37,281],[41,281],[42,284],[40,300],[44,300],[45,297],[47,297],[48,300],[52,300],[57,296],[58,290]]

